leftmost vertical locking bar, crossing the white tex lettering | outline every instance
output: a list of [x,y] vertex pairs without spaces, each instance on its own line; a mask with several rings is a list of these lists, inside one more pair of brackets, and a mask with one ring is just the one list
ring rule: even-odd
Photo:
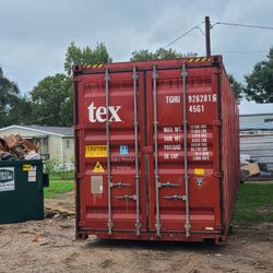
[[106,106],[106,143],[107,143],[107,182],[108,182],[108,235],[112,234],[111,215],[111,161],[110,161],[110,121],[109,121],[109,69],[105,70],[105,106]]

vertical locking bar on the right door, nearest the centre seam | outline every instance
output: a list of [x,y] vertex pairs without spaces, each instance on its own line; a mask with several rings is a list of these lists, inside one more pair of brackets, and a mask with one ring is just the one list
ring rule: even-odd
[[155,177],[155,229],[156,235],[161,237],[161,209],[159,209],[159,176],[158,176],[158,144],[157,144],[157,90],[156,90],[156,79],[158,78],[156,66],[153,67],[153,103],[154,103],[154,177]]

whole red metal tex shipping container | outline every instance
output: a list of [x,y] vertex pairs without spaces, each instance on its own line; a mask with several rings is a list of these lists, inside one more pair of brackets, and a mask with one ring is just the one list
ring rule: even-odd
[[225,240],[239,129],[222,57],[75,66],[73,84],[78,237]]

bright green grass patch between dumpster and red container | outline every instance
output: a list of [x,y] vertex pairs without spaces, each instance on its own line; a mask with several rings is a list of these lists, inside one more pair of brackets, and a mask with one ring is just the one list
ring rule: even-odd
[[74,189],[74,180],[59,181],[50,180],[49,187],[45,188],[44,197],[46,199],[56,198],[59,193],[70,192]]

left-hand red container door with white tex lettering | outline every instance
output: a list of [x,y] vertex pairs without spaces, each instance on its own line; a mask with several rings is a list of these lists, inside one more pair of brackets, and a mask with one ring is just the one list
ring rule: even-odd
[[133,68],[128,72],[106,69],[105,73],[90,74],[83,80],[79,81],[79,128],[84,129],[79,145],[79,225],[108,234],[139,234],[145,228],[145,197],[140,194],[140,180],[145,176],[140,164],[142,75]]

